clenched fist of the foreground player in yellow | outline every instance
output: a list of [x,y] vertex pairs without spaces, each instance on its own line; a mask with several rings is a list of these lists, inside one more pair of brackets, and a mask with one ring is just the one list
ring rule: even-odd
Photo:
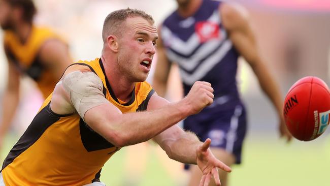
[[190,108],[190,115],[199,113],[204,107],[213,103],[213,88],[211,83],[196,81],[188,95],[183,99]]

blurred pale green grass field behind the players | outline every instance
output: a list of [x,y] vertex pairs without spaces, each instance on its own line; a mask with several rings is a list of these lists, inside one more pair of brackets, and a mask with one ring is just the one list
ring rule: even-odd
[[[17,137],[7,139],[2,160]],[[158,146],[131,148],[122,148],[104,166],[101,178],[107,185],[179,186],[187,181],[188,174],[181,169],[182,165],[169,160]],[[142,152],[136,153],[139,149]],[[248,137],[243,164],[233,167],[230,185],[328,186],[329,169],[330,136],[312,142],[295,140],[290,144],[267,137]]]

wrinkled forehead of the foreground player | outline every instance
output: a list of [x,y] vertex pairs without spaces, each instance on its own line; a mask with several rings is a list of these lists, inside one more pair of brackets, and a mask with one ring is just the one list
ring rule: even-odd
[[145,33],[152,37],[158,37],[157,28],[148,20],[142,17],[129,17],[126,19],[126,26],[134,34]]

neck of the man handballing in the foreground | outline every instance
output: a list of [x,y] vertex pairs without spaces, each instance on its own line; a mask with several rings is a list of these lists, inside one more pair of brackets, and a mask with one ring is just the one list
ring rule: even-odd
[[131,92],[135,87],[135,82],[131,82],[125,78],[118,69],[111,65],[109,59],[106,61],[104,56],[101,58],[106,78],[108,79],[116,98],[124,102],[129,102],[131,99]]

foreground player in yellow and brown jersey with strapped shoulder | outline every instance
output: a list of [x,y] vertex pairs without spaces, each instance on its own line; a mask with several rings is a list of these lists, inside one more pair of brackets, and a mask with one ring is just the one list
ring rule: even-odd
[[[65,70],[0,172],[6,185],[102,185],[101,169],[121,147],[154,139],[169,158],[197,164],[220,185],[217,160],[176,123],[213,102],[208,82],[196,82],[187,97],[169,103],[145,82],[158,35],[153,18],[123,9],[105,19],[101,58]],[[138,112],[139,111],[139,112]],[[115,169],[115,167],[114,167]],[[4,184],[1,184],[1,181]]]

